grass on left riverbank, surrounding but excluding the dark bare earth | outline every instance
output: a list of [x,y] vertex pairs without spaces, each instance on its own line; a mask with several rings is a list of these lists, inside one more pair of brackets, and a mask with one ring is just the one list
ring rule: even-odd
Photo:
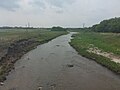
[[[7,49],[10,44],[15,43],[16,41],[23,40],[23,39],[33,39],[35,43],[28,45],[27,47],[23,47],[23,52],[28,52],[34,47],[36,47],[39,44],[48,42],[60,35],[67,34],[65,31],[49,31],[49,30],[39,30],[39,29],[33,29],[33,30],[6,30],[0,32],[0,53]],[[22,53],[18,53],[18,57],[20,58]],[[20,55],[19,55],[20,54]],[[20,56],[20,57],[19,57]],[[15,60],[16,61],[16,60]],[[14,61],[14,63],[15,63]],[[6,78],[6,75],[8,72],[14,67],[14,63],[11,63],[11,61],[6,61],[3,63],[0,63],[0,81],[4,81]]]

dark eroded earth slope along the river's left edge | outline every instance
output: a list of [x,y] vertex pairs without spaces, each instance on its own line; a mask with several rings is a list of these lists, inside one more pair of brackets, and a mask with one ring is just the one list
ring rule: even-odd
[[23,39],[12,43],[0,60],[0,82],[6,80],[6,76],[14,69],[14,63],[38,44],[39,42],[33,39]]

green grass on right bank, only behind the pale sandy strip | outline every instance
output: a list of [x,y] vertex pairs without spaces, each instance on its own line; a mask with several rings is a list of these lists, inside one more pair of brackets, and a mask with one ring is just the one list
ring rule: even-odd
[[86,47],[93,44],[103,51],[120,55],[120,34],[80,32],[76,40]]

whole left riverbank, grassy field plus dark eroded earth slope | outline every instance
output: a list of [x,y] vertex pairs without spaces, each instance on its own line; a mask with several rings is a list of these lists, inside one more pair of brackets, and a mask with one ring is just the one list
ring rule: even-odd
[[[6,75],[8,75],[9,71],[14,68],[14,63],[25,53],[33,49],[39,44],[48,42],[57,36],[67,34],[67,32],[63,31],[48,31],[48,30],[6,30],[0,32],[0,53],[5,49],[8,50],[11,45],[17,45],[16,48],[12,47],[12,54],[5,54],[3,60],[0,60],[0,81],[4,81]],[[29,40],[31,44],[29,45]],[[23,41],[28,44],[25,45]],[[33,43],[32,43],[33,42]],[[19,44],[22,43],[22,44]],[[20,45],[20,46],[19,46]],[[21,48],[21,45],[22,48]],[[19,48],[20,47],[20,48]],[[22,50],[21,50],[22,49]],[[6,53],[8,53],[6,50]],[[15,52],[14,52],[15,51]],[[13,58],[13,60],[11,59]]]

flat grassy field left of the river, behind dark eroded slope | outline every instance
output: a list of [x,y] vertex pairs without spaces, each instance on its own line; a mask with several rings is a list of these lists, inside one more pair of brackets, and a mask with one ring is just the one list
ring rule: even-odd
[[7,48],[11,43],[21,40],[34,38],[38,41],[47,40],[54,38],[65,32],[59,31],[48,31],[41,29],[25,30],[25,29],[13,29],[13,30],[2,30],[0,32],[0,48]]

